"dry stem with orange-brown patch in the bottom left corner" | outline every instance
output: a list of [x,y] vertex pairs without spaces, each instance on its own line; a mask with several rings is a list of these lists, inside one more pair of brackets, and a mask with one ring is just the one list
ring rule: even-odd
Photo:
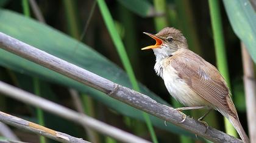
[[29,131],[37,135],[42,135],[59,142],[89,143],[83,139],[79,139],[60,131],[55,131],[50,128],[43,127],[41,125],[35,124],[34,122],[29,122],[24,119],[17,118],[2,111],[0,111],[0,121],[4,122],[5,124],[20,128],[21,130]]

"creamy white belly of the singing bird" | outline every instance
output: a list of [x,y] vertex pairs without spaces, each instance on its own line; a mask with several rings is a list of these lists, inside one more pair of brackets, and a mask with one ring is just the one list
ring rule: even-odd
[[183,81],[183,79],[180,79],[177,71],[171,66],[168,67],[168,70],[163,69],[163,80],[171,96],[183,105],[187,107],[208,106],[208,102],[191,90],[187,83]]

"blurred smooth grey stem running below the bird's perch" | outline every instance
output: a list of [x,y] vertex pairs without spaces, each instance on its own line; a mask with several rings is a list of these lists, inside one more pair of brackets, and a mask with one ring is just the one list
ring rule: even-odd
[[[4,95],[17,99],[19,101],[22,101],[26,104],[34,105],[35,107],[39,107],[55,115],[59,115],[62,118],[77,122],[83,126],[90,127],[91,129],[99,131],[100,133],[112,136],[113,138],[118,139],[119,141],[148,143],[148,141],[141,139],[130,133],[127,133],[126,131],[120,130],[119,128],[107,125],[104,122],[91,118],[90,116],[78,113],[74,110],[63,107],[62,105],[55,104],[54,102],[48,101],[39,96],[35,96],[32,93],[21,90],[20,88],[13,87],[9,84],[5,84],[2,81],[0,81],[0,93],[3,93]],[[51,134],[51,131],[47,131],[46,133]]]

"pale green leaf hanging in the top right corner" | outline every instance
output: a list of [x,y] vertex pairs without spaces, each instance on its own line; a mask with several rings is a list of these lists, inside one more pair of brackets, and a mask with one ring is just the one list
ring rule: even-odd
[[248,0],[223,0],[232,28],[256,62],[256,13]]

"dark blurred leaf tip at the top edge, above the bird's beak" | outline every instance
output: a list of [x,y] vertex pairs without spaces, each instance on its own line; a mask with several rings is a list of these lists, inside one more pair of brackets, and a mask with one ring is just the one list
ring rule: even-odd
[[117,0],[130,11],[136,13],[141,17],[152,16],[154,14],[154,7],[148,0]]

